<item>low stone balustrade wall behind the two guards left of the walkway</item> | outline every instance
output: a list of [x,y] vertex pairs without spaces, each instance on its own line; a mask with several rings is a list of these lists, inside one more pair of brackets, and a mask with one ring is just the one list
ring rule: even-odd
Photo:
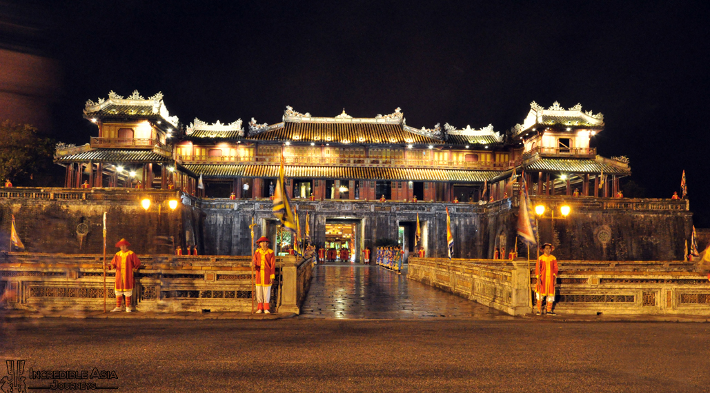
[[[138,311],[251,311],[251,268],[246,257],[141,256],[136,272],[134,304]],[[109,260],[110,262],[110,260]],[[310,287],[309,261],[294,257],[277,260],[276,283],[271,304],[278,301],[280,272],[283,309],[299,312]],[[282,270],[283,268],[283,270]],[[293,268],[293,269],[292,269]],[[290,271],[298,274],[291,277]],[[115,270],[107,271],[107,310],[115,306]],[[306,280],[307,278],[307,280]],[[0,254],[0,293],[12,289],[16,295],[8,305],[16,309],[53,311],[104,309],[102,255]],[[293,296],[290,296],[293,292]]]

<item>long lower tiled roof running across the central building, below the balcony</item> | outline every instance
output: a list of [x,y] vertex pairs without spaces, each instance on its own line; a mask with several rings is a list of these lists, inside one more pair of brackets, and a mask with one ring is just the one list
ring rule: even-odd
[[[190,165],[204,177],[278,177],[278,165]],[[373,179],[393,181],[483,182],[498,171],[427,170],[380,167],[286,167],[286,177],[310,179]]]

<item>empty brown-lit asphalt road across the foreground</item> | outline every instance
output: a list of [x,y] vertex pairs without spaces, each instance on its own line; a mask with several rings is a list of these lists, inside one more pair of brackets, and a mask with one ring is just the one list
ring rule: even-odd
[[112,392],[710,392],[708,323],[35,319],[2,326],[0,360],[26,360],[28,387],[51,384],[29,379],[30,367],[97,367],[118,380],[63,382],[119,387]]

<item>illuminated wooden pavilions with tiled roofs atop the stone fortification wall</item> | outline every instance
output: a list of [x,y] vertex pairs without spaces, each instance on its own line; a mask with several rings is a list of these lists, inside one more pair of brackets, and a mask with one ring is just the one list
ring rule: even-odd
[[97,137],[60,146],[55,162],[67,168],[65,187],[174,187],[208,198],[268,199],[282,155],[295,199],[498,201],[513,193],[513,172],[525,174],[533,195],[577,189],[580,196],[615,196],[630,167],[625,157],[604,158],[589,146],[603,116],[579,104],[530,106],[523,123],[505,133],[490,125],[414,128],[400,109],[372,118],[345,111],[316,117],[290,106],[281,122],[252,118],[245,129],[241,119],[184,125],[160,93],[143,99],[111,92],[84,109]]

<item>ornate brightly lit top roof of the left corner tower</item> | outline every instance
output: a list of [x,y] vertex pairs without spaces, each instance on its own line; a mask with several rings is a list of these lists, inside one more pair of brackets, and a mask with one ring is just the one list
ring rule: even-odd
[[[98,114],[100,111],[104,111],[104,109],[107,109],[109,106],[144,106],[146,107],[145,109],[131,109],[126,114],[130,116],[160,116],[175,128],[178,128],[180,124],[178,116],[170,116],[168,109],[165,108],[162,92],[158,92],[158,94],[144,99],[143,96],[138,93],[138,90],[133,90],[133,93],[124,99],[123,96],[119,96],[111,90],[108,99],[99,98],[98,102],[89,99],[86,102],[86,106],[84,106],[84,116],[88,118],[94,114]],[[116,111],[116,113],[117,112],[118,111]]]

